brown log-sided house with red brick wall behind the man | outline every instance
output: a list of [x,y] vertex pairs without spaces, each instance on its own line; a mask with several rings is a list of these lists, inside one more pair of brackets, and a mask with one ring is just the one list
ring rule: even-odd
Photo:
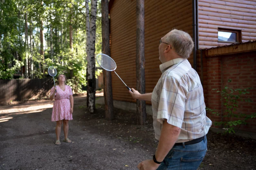
[[[144,3],[146,93],[153,91],[161,76],[159,40],[172,28],[184,30],[194,39],[195,50],[188,61],[201,78],[208,107],[222,109],[219,98],[212,102],[215,95],[211,88],[224,87],[229,78],[236,82],[234,86],[256,88],[256,0],[145,0]],[[110,53],[117,64],[115,71],[126,85],[136,88],[136,0],[110,0],[109,14]],[[134,102],[121,80],[112,74],[113,99]],[[251,97],[256,101],[255,93],[252,90]],[[255,102],[241,107],[247,108],[244,112],[256,112]],[[255,120],[251,123],[251,130],[256,130]]]

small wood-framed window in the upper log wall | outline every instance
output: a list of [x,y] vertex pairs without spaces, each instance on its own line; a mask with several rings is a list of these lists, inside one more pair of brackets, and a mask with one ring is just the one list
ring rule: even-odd
[[219,28],[218,42],[241,43],[242,42],[241,30]]

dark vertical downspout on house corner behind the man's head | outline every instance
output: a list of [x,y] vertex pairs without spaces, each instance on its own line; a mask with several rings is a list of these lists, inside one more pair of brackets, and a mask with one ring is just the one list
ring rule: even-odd
[[197,71],[197,6],[196,6],[196,1],[197,0],[192,0],[193,4],[193,41],[194,41],[194,53],[193,53],[193,67]]

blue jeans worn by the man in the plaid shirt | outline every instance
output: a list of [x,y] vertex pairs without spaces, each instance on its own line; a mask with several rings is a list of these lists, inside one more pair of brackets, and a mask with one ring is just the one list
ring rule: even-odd
[[206,136],[201,142],[191,145],[174,146],[157,170],[197,170],[207,150]]

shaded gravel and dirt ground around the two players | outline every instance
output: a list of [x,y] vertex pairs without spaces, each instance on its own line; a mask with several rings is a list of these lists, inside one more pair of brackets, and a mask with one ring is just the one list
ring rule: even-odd
[[[102,94],[98,94],[99,96]],[[152,117],[136,125],[136,112],[114,109],[115,120],[105,120],[104,106],[87,112],[86,97],[74,97],[69,122],[72,143],[54,145],[53,101],[29,101],[0,106],[0,169],[137,169],[151,159],[158,142]],[[208,151],[199,170],[256,170],[256,142],[251,139],[209,132]]]

